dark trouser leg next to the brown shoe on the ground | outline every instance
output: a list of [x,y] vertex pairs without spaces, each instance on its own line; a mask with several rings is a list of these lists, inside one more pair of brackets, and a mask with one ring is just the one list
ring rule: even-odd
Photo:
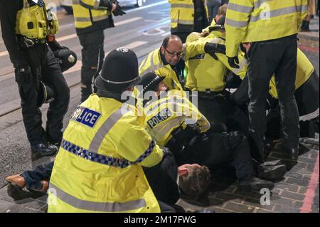
[[40,190],[42,188],[41,181],[50,181],[52,169],[53,162],[49,162],[36,167],[36,169],[23,171],[22,176],[26,180],[26,188]]

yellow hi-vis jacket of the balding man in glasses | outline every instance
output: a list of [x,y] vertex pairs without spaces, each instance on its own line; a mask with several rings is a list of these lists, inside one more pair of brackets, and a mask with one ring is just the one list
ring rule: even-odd
[[161,60],[160,49],[156,49],[142,60],[139,65],[139,75],[142,76],[146,73],[154,72],[156,75],[161,77],[166,77],[162,80],[169,89],[183,90],[181,83],[178,80],[176,72],[171,68],[171,66],[165,65]]

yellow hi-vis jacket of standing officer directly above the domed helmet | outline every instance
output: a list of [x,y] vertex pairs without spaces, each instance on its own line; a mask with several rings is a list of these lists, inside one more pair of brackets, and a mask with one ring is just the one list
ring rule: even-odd
[[110,11],[99,7],[99,3],[98,0],[73,0],[75,28],[87,28],[92,26],[92,22],[102,21],[110,16]]

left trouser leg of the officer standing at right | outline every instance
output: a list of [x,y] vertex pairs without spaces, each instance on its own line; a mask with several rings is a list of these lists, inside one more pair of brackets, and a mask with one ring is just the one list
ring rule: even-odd
[[250,139],[255,146],[253,151],[264,159],[264,134],[266,130],[265,102],[269,93],[269,83],[279,60],[282,49],[273,43],[254,43],[248,53],[248,83],[250,103],[248,106],[250,118]]

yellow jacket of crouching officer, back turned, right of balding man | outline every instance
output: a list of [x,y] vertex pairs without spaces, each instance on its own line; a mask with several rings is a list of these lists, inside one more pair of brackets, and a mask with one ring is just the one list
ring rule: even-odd
[[224,44],[224,33],[212,31],[206,37],[196,36],[196,33],[191,33],[188,36],[185,57],[188,66],[186,88],[196,91],[219,92],[225,88],[225,75],[228,69],[236,75],[245,76],[247,60],[245,60],[244,53],[239,52],[240,68],[232,68],[224,54],[216,53],[218,60],[215,60],[208,53],[205,53],[204,46],[206,43]]

